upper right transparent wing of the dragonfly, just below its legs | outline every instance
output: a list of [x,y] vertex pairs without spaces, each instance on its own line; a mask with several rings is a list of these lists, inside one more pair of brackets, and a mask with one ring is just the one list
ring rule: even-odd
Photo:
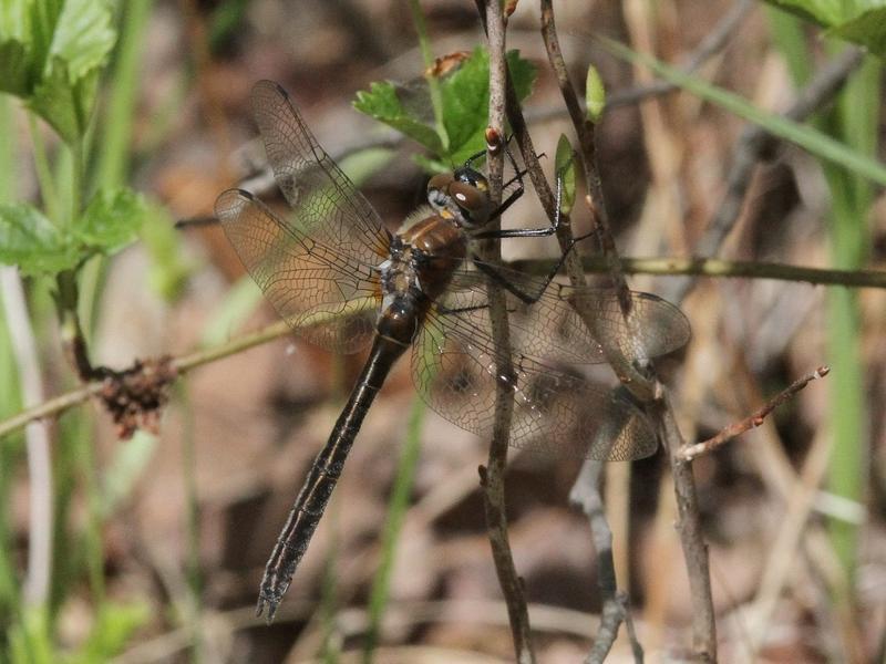
[[[630,292],[631,313],[626,321],[614,289],[575,289],[557,282],[546,286],[544,279],[516,270],[497,266],[491,269],[514,289],[538,298],[526,304],[507,292],[512,346],[526,355],[557,355],[568,362],[597,364],[606,361],[605,345],[637,360],[640,355],[657,357],[670,353],[689,341],[689,321],[682,311],[651,293]],[[441,310],[462,311],[462,318],[490,330],[486,279],[477,270],[457,271],[440,300]],[[574,301],[581,301],[594,313],[590,326],[573,307]]]

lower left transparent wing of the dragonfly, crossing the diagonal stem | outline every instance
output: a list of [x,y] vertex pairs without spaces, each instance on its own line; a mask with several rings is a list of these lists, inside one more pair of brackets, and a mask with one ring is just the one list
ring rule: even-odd
[[371,264],[321,243],[243,189],[224,191],[215,214],[253,279],[296,332],[342,353],[371,340],[380,302]]

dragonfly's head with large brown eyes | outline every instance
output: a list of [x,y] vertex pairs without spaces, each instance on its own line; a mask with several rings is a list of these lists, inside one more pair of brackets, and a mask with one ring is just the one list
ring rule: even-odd
[[468,166],[452,174],[435,175],[427,183],[427,203],[437,215],[465,229],[480,228],[492,212],[490,183]]

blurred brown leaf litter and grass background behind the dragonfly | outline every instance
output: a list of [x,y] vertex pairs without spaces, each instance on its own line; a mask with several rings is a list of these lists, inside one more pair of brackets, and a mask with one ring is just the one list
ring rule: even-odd
[[[423,200],[427,178],[413,159],[418,146],[351,106],[371,82],[422,75],[406,2],[123,4],[114,14],[120,42],[100,79],[94,131],[97,149],[104,123],[122,114],[125,138],[119,162],[96,166],[96,177],[131,184],[154,212],[140,241],[113,259],[96,259],[101,266],[87,266],[81,283],[81,298],[90,299],[81,312],[92,357],[117,369],[218,346],[276,320],[219,228],[172,230],[175,220],[210,216],[223,189],[261,169],[248,104],[257,80],[276,81],[292,95],[389,228]],[[420,9],[435,55],[484,43],[473,3],[435,0]],[[555,2],[573,80],[581,84],[593,63],[609,94],[648,84],[651,74],[609,55],[593,33],[680,64],[735,11],[741,20],[697,73],[760,108],[786,108],[804,76],[839,50],[810,23],[754,3]],[[549,155],[543,165],[550,177],[557,138],[571,129],[535,3],[518,4],[507,40],[538,68],[525,112],[536,149]],[[868,58],[853,74],[857,83],[818,114],[816,126],[861,153],[882,152],[880,77]],[[853,107],[873,117],[862,134],[841,124]],[[4,117],[14,127],[6,133],[13,138],[13,197],[38,199],[32,144],[42,136],[52,153],[53,134],[29,126],[11,97]],[[692,255],[721,211],[744,127],[684,92],[606,113],[598,163],[622,256]],[[853,145],[858,135],[861,147]],[[886,218],[878,189],[791,145],[769,157],[718,257],[882,268]],[[581,207],[578,230],[588,222]],[[546,219],[529,191],[505,224],[538,227]],[[512,241],[503,251],[506,259],[552,258],[556,242]],[[62,356],[52,288],[43,281],[29,278],[24,288],[47,398],[75,387],[76,378]],[[648,274],[629,282],[672,300],[682,283]],[[883,661],[886,297],[873,288],[699,278],[681,307],[693,338],[660,370],[690,443],[748,416],[815,367],[834,367],[762,426],[693,464],[722,660]],[[9,310],[3,315],[10,329],[22,322]],[[3,418],[22,406],[22,370],[9,339],[4,331]],[[254,606],[267,556],[362,360],[286,335],[183,376],[155,433],[121,440],[95,403],[53,421],[52,520],[43,523],[51,564],[37,613],[22,588],[33,582],[29,552],[39,494],[23,433],[6,436],[0,660],[356,661],[384,554],[388,501],[418,412],[408,362],[370,411],[275,623],[256,619]],[[511,661],[478,490],[485,443],[430,411],[419,430],[414,485],[384,582],[377,661]],[[619,582],[650,661],[680,661],[691,641],[668,468],[662,450],[611,464],[605,486]],[[576,461],[517,458],[506,477],[511,542],[542,662],[581,661],[597,625],[595,550],[587,518],[568,504],[578,469]],[[610,661],[630,661],[627,642],[616,643]]]

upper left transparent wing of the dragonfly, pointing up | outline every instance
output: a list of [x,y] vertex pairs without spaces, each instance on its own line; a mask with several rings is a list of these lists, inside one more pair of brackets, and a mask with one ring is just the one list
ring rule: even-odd
[[317,143],[286,91],[253,87],[258,124],[277,186],[305,237],[370,264],[388,258],[390,234],[378,214]]

